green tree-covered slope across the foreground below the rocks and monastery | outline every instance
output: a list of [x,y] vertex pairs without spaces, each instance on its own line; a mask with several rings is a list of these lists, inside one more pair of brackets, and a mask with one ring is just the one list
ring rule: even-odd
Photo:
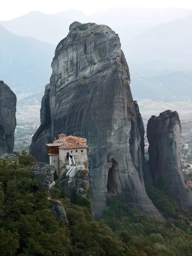
[[[1,256],[192,256],[192,213],[164,192],[147,188],[166,221],[111,197],[97,222],[89,208],[71,204],[59,188],[37,189],[30,169],[36,160],[25,152],[17,156],[18,165],[0,160]],[[62,195],[67,227],[51,212],[50,195],[57,201]]]

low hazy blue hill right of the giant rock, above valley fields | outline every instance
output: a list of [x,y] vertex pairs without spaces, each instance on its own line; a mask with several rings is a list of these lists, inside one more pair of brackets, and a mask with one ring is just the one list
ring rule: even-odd
[[131,79],[131,92],[134,99],[192,99],[192,70]]

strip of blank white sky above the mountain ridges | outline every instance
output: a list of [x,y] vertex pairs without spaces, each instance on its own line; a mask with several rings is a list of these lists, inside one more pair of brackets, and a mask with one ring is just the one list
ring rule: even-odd
[[[1,0],[2,2],[3,0]],[[95,10],[116,6],[192,9],[191,0],[6,0],[0,4],[0,20],[9,20],[36,10],[45,13],[78,9],[89,14]]]

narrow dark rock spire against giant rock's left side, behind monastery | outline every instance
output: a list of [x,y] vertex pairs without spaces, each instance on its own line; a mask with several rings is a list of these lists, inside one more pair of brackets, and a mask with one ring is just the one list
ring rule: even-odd
[[[41,125],[32,138],[32,144],[29,153],[32,154],[39,162],[49,163],[47,154],[47,143],[52,143],[51,138],[51,117],[49,106],[50,84],[45,86],[45,93],[41,101],[40,118]],[[40,154],[41,152],[41,154]]]

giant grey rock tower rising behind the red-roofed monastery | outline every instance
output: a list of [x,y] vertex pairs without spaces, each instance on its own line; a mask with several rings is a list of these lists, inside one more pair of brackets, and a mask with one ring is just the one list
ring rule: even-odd
[[[121,195],[130,206],[161,217],[145,192],[128,65],[118,35],[108,26],[70,25],[55,50],[44,113],[50,114],[52,140],[61,133],[87,138],[96,219],[102,218],[111,195]],[[41,161],[46,160],[41,141],[49,142],[44,129],[41,122],[30,148]]]

